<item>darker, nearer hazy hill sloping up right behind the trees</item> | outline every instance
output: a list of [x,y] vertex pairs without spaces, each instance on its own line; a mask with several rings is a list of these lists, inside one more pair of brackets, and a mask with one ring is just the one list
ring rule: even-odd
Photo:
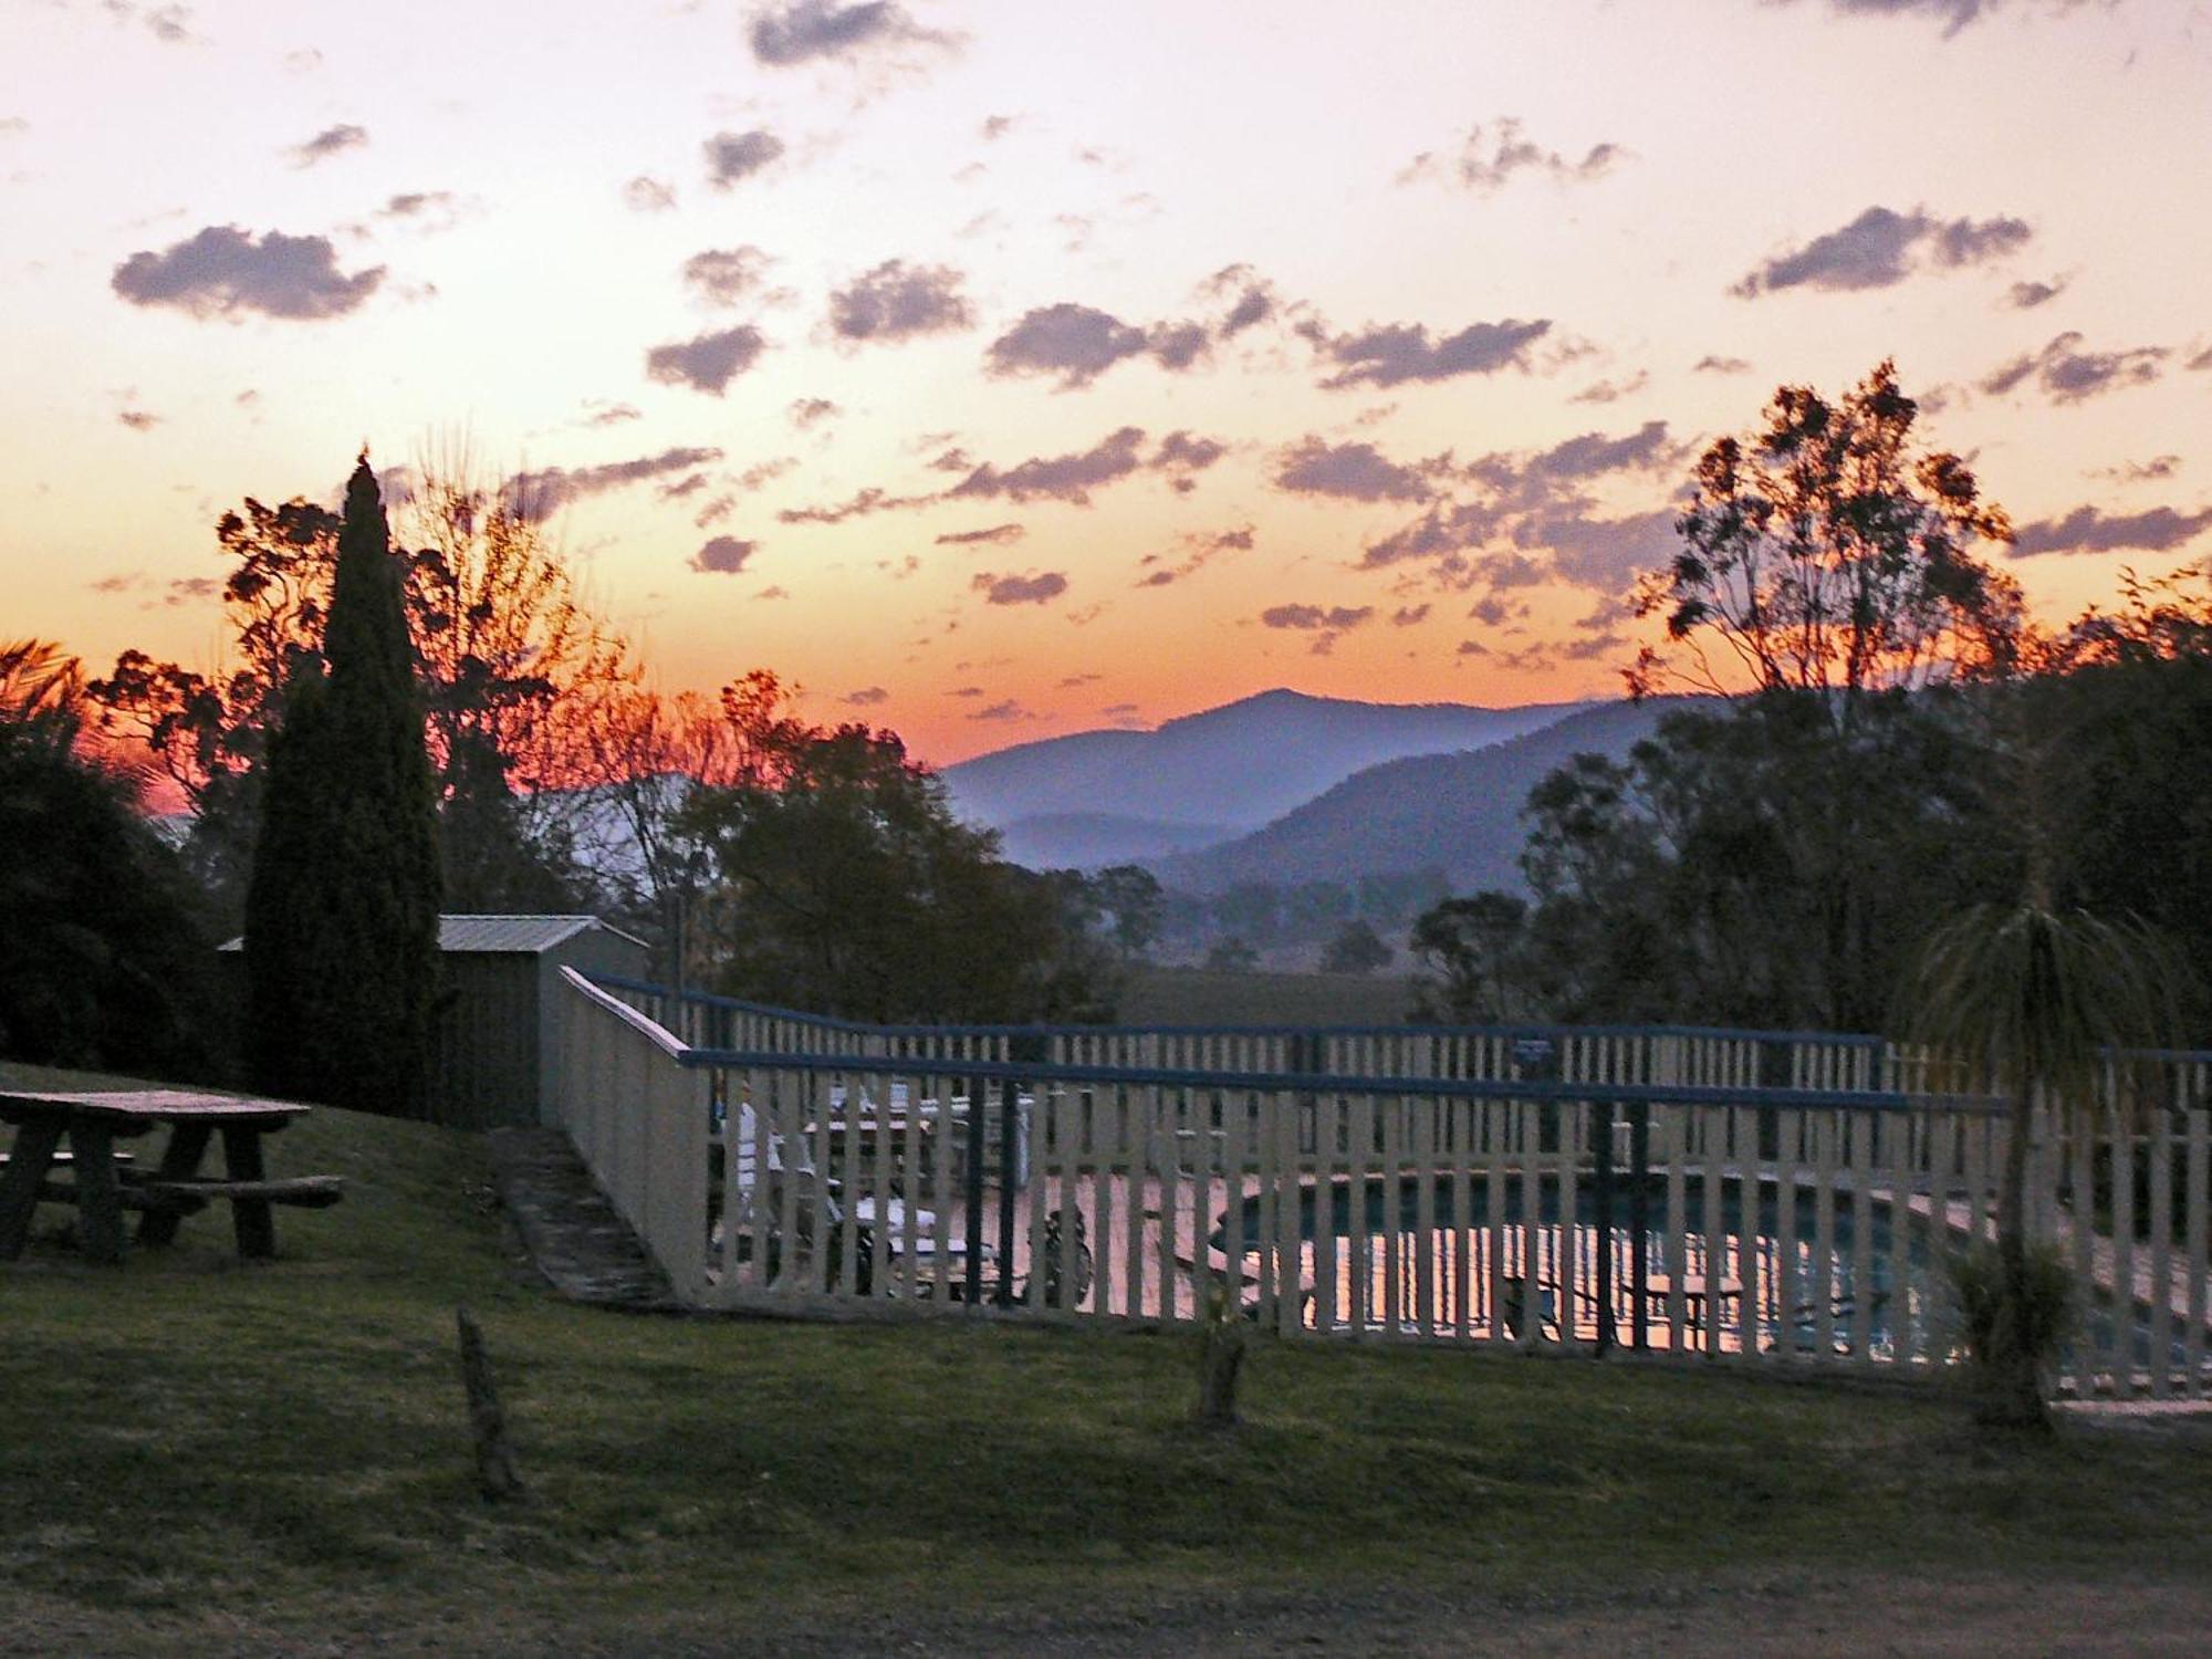
[[1575,754],[1628,754],[1686,701],[1597,703],[1491,748],[1371,765],[1263,830],[1152,867],[1170,887],[1190,891],[1425,867],[1444,869],[1453,891],[1520,889],[1528,790]]

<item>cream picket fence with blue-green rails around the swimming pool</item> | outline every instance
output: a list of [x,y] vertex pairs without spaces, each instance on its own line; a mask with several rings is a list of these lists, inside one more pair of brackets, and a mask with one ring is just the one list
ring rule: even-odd
[[[564,1126],[699,1307],[1234,1305],[1287,1338],[1933,1376],[1942,1259],[1995,1234],[2004,1110],[1878,1093],[1913,1064],[1867,1040],[869,1031],[568,991]],[[2212,1391],[2208,1062],[2166,1077],[2031,1139],[2079,1394]]]

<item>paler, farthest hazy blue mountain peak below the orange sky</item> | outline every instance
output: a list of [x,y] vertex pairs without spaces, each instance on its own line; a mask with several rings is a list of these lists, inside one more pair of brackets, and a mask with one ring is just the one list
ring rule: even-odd
[[998,830],[1106,814],[1237,834],[1380,761],[1500,743],[1577,708],[1584,703],[1360,703],[1272,690],[1155,732],[1020,743],[945,768],[945,781],[962,816]]

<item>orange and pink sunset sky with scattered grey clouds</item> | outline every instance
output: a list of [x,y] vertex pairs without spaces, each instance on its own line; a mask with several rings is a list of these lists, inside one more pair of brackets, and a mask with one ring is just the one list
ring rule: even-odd
[[1610,695],[1694,449],[1893,354],[2053,615],[2212,553],[2190,0],[0,4],[0,639],[460,438],[668,688],[956,761]]

